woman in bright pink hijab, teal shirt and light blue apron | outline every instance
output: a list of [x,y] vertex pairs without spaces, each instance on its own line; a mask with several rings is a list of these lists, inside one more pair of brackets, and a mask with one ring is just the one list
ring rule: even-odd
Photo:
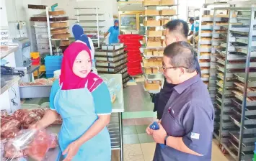
[[61,115],[58,142],[65,161],[110,161],[111,143],[107,124],[112,103],[107,85],[91,72],[87,45],[73,42],[64,52],[61,77],[50,92],[50,110],[33,128],[42,129]]

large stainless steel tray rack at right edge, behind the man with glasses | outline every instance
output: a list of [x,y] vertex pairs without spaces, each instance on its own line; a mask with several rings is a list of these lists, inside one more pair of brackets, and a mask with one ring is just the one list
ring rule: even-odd
[[[216,72],[211,74],[216,75],[213,104],[219,118],[213,135],[234,160],[252,160],[256,142],[256,8],[215,8],[215,15],[217,10],[227,10],[229,24],[220,28],[219,37],[224,40],[211,54],[216,57]],[[223,18],[227,20],[221,17],[221,21]],[[215,24],[213,21],[213,33]]]

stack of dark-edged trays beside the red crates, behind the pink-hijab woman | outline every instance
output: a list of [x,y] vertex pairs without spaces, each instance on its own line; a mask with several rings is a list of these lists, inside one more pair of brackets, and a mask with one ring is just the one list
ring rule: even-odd
[[123,85],[130,79],[127,70],[127,51],[123,44],[102,45],[95,50],[96,68],[99,74],[122,74]]

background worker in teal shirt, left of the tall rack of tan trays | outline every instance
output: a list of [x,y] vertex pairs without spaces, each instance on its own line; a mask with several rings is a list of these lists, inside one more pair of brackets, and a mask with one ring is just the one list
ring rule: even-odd
[[115,25],[110,27],[108,31],[105,33],[104,37],[107,37],[107,35],[110,33],[110,37],[108,37],[108,43],[109,45],[118,43],[118,35],[119,35],[119,22],[118,20],[115,20]]

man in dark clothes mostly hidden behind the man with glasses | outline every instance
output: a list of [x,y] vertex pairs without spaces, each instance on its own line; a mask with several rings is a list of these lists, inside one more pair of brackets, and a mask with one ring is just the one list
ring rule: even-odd
[[[177,41],[187,42],[187,35],[189,31],[187,22],[183,21],[182,19],[174,19],[168,22],[165,25],[165,27],[166,29],[165,29],[164,36],[165,36],[166,45],[170,45],[173,42],[177,42]],[[195,53],[195,69],[200,75],[201,74],[200,66],[198,63],[198,57],[196,57],[196,53]],[[153,96],[152,101],[154,102],[154,111],[157,111],[157,119],[162,118],[164,106],[166,105],[169,99],[169,96],[171,96],[172,88],[174,86],[175,85],[173,85],[172,83],[167,83],[167,81],[164,78],[164,86],[162,90]]]

